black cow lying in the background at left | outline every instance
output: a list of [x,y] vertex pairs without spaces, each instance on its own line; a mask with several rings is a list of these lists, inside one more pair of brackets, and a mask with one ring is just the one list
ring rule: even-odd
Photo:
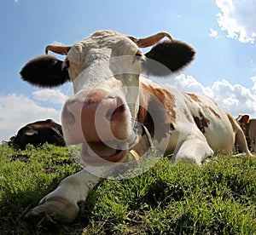
[[24,150],[27,144],[39,146],[46,142],[55,146],[66,145],[61,125],[51,119],[26,124],[11,138],[9,145]]

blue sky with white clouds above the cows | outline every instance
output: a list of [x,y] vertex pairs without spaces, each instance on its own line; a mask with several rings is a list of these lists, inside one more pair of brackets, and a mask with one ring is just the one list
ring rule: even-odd
[[[4,0],[0,3],[0,142],[26,123],[60,123],[71,83],[38,89],[20,79],[46,45],[73,45],[97,30],[135,37],[169,32],[196,50],[183,72],[160,83],[207,95],[234,117],[256,117],[256,0]],[[64,58],[64,57],[63,57]]]

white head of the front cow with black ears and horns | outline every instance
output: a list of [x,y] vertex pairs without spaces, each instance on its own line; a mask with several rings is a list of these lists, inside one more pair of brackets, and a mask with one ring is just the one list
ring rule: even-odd
[[[158,43],[163,37],[169,40]],[[157,43],[148,53],[140,48]],[[48,55],[67,54],[64,61]],[[113,31],[95,32],[72,47],[49,45],[46,55],[20,72],[28,83],[54,87],[71,80],[74,96],[61,122],[67,145],[83,143],[81,155],[119,162],[135,140],[141,73],[166,76],[187,66],[195,51],[166,32],[138,39]]]

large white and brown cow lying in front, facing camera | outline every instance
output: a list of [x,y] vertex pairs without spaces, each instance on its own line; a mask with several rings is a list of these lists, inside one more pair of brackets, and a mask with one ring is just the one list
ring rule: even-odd
[[[142,48],[151,46],[143,54]],[[67,56],[62,61],[49,51]],[[235,140],[241,152],[251,154],[239,124],[213,100],[149,79],[180,72],[195,58],[195,49],[167,32],[137,38],[98,31],[73,46],[49,45],[45,52],[28,61],[20,75],[39,87],[73,83],[74,95],[61,112],[62,129],[67,145],[81,146],[87,166],[62,180],[27,218],[47,214],[74,221],[78,202],[93,186],[122,163],[139,162],[152,144],[171,154],[172,163],[201,165],[214,152],[232,152]]]

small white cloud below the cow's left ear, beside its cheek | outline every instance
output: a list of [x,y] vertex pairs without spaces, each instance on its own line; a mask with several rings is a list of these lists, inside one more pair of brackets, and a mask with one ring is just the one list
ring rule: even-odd
[[53,104],[63,104],[68,96],[59,89],[40,89],[32,93],[34,100],[49,101]]

